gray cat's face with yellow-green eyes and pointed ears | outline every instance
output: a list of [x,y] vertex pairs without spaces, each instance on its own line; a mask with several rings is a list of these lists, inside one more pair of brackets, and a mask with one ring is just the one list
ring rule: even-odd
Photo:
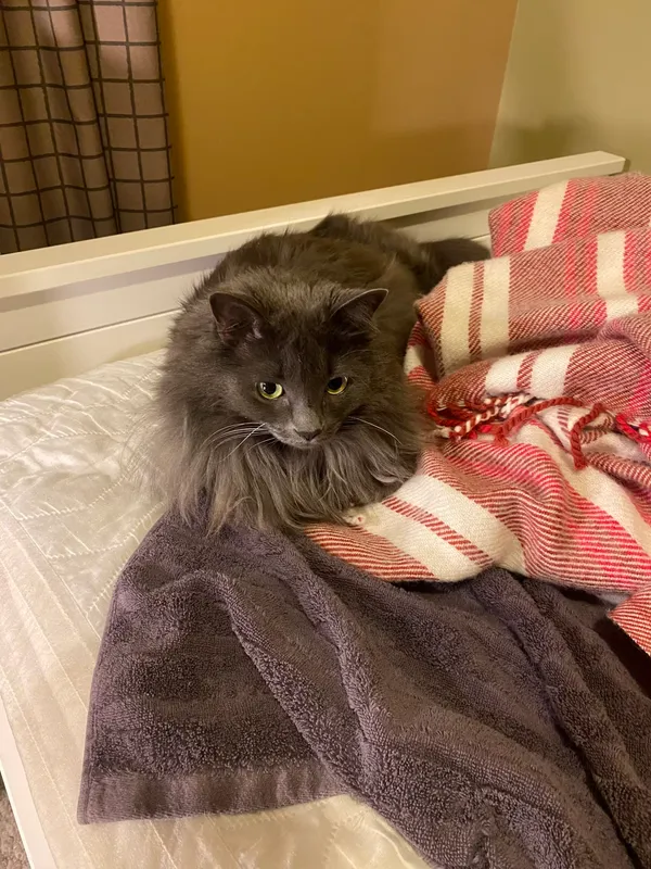
[[295,449],[335,437],[376,388],[369,344],[385,294],[350,291],[322,308],[265,314],[214,293],[222,406]]

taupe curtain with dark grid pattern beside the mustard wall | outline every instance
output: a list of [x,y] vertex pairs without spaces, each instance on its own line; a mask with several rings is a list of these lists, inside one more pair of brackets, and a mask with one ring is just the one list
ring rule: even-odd
[[155,0],[0,3],[0,253],[174,223]]

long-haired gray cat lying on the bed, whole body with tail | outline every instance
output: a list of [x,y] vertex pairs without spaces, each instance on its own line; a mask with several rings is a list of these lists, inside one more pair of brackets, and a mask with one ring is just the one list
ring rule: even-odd
[[418,414],[403,356],[414,302],[488,252],[418,244],[331,215],[227,254],[184,302],[157,392],[157,467],[186,517],[344,521],[412,476]]

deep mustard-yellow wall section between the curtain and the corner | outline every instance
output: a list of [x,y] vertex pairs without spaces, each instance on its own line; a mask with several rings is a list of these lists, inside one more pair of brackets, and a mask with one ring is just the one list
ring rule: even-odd
[[182,219],[485,168],[516,0],[159,0]]

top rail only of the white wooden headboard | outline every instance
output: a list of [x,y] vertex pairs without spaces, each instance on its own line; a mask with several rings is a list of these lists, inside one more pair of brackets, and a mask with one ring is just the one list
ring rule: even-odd
[[595,151],[12,253],[0,257],[0,299],[78,282],[80,269],[88,280],[213,256],[263,230],[308,229],[331,211],[387,221],[511,197],[582,175],[611,175],[621,172],[624,164],[624,158]]

